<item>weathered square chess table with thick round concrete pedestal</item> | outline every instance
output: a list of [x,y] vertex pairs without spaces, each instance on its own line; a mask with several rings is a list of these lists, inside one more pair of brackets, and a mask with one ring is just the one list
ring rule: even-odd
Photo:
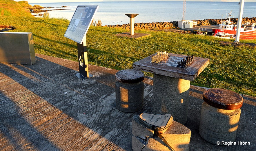
[[[133,63],[133,69],[154,73],[153,78],[153,114],[172,114],[173,120],[181,124],[187,121],[190,81],[193,81],[208,66],[209,59],[194,57],[186,68],[151,63],[152,54]],[[185,55],[169,53],[170,57],[183,58]],[[168,60],[169,59],[169,60]],[[175,62],[177,65],[177,63]]]

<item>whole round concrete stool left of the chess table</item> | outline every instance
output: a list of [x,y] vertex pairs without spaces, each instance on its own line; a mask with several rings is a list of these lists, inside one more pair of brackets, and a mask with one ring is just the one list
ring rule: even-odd
[[116,107],[123,112],[136,112],[143,107],[144,73],[128,69],[116,73]]

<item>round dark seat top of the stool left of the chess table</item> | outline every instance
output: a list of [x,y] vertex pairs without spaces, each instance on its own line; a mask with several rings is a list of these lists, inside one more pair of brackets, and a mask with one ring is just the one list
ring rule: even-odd
[[120,70],[116,73],[116,80],[123,83],[138,83],[144,80],[144,73],[135,69]]

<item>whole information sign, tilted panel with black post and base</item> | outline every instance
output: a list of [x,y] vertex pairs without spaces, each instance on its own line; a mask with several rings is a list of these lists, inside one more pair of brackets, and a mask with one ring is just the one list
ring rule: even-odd
[[79,79],[93,77],[88,70],[86,33],[97,10],[98,6],[77,6],[64,35],[64,37],[77,42],[79,73],[76,76]]

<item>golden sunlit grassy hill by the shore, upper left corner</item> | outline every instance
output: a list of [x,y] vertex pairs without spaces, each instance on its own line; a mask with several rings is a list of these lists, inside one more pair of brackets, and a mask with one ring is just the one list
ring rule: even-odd
[[0,16],[32,16],[27,1],[0,0]]

